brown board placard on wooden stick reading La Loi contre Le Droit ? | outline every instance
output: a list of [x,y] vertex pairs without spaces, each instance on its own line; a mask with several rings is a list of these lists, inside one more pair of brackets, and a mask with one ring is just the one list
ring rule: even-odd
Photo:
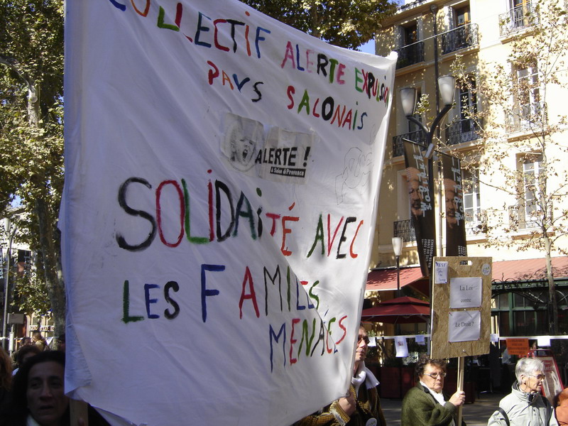
[[457,391],[464,390],[464,356],[489,353],[492,264],[490,257],[434,258],[430,353],[458,359]]

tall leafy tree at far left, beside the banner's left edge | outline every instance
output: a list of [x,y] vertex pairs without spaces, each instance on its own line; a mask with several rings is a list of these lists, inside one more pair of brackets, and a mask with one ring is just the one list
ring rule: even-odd
[[18,240],[38,253],[58,334],[65,327],[56,226],[63,184],[62,0],[0,0],[0,94],[0,214],[10,215],[14,200],[24,210],[12,219]]

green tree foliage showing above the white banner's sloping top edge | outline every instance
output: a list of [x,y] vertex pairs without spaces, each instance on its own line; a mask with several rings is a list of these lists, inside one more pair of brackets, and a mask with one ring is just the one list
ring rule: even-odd
[[278,21],[332,45],[356,49],[379,29],[378,22],[396,9],[389,0],[244,0]]

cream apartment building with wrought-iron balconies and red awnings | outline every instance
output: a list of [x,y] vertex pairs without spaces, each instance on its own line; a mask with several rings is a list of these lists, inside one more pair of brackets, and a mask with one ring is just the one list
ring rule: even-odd
[[[566,10],[564,3],[553,3],[559,10]],[[430,126],[437,110],[443,107],[442,101],[437,102],[437,77],[455,74],[459,65],[462,78],[456,84],[454,107],[439,126],[438,149],[464,159],[467,254],[493,258],[493,332],[526,337],[549,334],[552,309],[548,304],[545,251],[529,248],[525,243],[542,236],[542,226],[535,220],[542,213],[535,182],[541,182],[546,173],[545,192],[566,192],[568,155],[563,150],[568,146],[568,132],[558,117],[566,114],[568,74],[558,75],[560,84],[544,78],[546,64],[539,63],[544,55],[536,62],[511,62],[509,58],[519,45],[517,38],[531,43],[535,30],[551,25],[556,22],[545,17],[535,0],[407,1],[381,22],[375,40],[376,54],[387,55],[396,50],[398,62],[367,297],[381,301],[394,296],[388,291],[396,288],[393,236],[403,238],[403,291],[412,295],[408,289],[413,288],[427,294],[428,283],[418,267],[410,220],[402,142],[405,138],[425,146],[425,138],[402,111],[400,91],[414,87],[418,97],[427,95],[429,108],[415,117]],[[564,37],[568,37],[565,31]],[[560,55],[558,60],[562,59]],[[484,96],[476,86],[483,80],[487,87],[491,80],[488,76],[496,70],[501,70],[510,84],[493,90],[504,94],[506,108]],[[481,112],[484,114],[478,114]],[[549,126],[549,121],[555,126]],[[551,130],[542,132],[543,126]],[[554,143],[544,146],[539,143],[540,138]],[[563,155],[563,161],[552,161]],[[503,168],[516,175],[513,185],[506,173],[501,173]],[[435,184],[439,188],[436,202],[443,205],[439,183],[437,180]],[[562,219],[568,201],[565,197],[549,198],[547,214],[559,219],[558,226],[547,228],[547,234],[555,241],[551,257],[559,319],[557,334],[568,334],[568,226]],[[446,244],[443,221],[441,217],[436,225],[438,256],[444,253]],[[423,331],[423,327],[424,324],[404,324],[399,331],[413,334]],[[386,330],[386,334],[394,332],[392,328]]]

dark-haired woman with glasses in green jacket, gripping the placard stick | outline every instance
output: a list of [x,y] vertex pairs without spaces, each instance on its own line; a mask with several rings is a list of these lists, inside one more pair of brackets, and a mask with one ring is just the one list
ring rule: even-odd
[[[415,373],[419,382],[403,399],[400,426],[456,426],[457,408],[465,401],[463,391],[448,397],[442,392],[446,361],[422,357]],[[465,426],[462,420],[461,425]]]

